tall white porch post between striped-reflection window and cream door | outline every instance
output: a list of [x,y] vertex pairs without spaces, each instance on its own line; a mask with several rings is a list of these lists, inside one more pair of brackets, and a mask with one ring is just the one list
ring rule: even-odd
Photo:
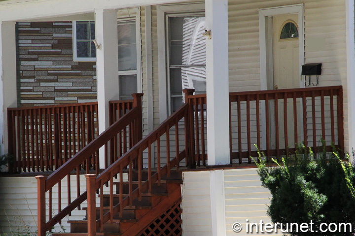
[[228,1],[206,0],[208,164],[229,164]]

